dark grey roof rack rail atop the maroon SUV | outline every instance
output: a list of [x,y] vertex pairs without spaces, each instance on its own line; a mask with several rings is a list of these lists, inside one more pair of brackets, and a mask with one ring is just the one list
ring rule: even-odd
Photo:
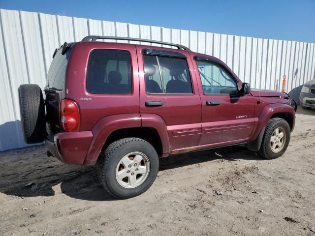
[[178,48],[179,50],[186,50],[188,52],[191,52],[191,50],[188,47],[185,47],[180,44],[161,42],[161,41],[156,41],[156,40],[151,40],[151,39],[142,39],[142,38],[90,35],[90,36],[84,37],[82,39],[82,42],[95,42],[97,39],[116,39],[116,40],[138,41],[138,42],[146,42],[146,43],[157,43],[157,44],[173,46],[173,47]]

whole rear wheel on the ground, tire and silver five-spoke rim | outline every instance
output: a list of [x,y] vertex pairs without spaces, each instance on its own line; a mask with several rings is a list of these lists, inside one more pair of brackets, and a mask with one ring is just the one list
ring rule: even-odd
[[157,151],[139,138],[112,143],[100,158],[100,181],[115,198],[131,198],[144,193],[158,174]]

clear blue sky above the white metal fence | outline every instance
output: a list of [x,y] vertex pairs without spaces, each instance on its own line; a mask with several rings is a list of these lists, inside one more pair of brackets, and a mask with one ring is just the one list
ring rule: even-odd
[[315,0],[0,0],[0,8],[315,42]]

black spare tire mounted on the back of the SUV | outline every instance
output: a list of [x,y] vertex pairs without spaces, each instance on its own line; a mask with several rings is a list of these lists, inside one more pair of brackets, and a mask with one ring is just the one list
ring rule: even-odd
[[46,136],[43,93],[38,85],[21,85],[18,91],[24,141],[27,144],[41,143]]

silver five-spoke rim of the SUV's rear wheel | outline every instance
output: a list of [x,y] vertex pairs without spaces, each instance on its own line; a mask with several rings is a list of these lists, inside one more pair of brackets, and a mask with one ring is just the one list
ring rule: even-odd
[[149,172],[149,158],[142,152],[130,152],[119,161],[116,180],[124,188],[135,188],[147,179]]

